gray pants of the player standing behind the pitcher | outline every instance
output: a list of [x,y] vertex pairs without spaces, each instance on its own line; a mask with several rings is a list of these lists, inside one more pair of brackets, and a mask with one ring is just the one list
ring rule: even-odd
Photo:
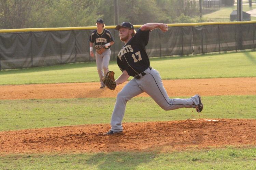
[[96,65],[97,65],[101,86],[104,86],[104,83],[102,82],[102,77],[109,71],[110,54],[111,54],[110,49],[106,49],[102,54],[98,54],[97,52],[95,54]]

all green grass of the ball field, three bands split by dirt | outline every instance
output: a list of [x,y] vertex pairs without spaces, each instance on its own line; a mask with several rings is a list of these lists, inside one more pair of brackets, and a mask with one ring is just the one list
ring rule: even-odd
[[[163,79],[256,77],[256,52],[151,58],[151,66],[160,72]],[[116,77],[121,73],[116,62],[111,62],[109,68],[116,72]],[[0,71],[1,85],[97,81],[96,64],[93,62]],[[151,98],[133,98],[127,103],[124,122],[195,118],[256,119],[255,95],[203,96],[203,101],[204,110],[199,115],[185,108],[163,111]],[[115,98],[0,100],[0,131],[109,123],[114,103]],[[255,146],[194,148],[181,152],[156,149],[148,152],[79,154],[0,153],[0,169],[255,168]]]

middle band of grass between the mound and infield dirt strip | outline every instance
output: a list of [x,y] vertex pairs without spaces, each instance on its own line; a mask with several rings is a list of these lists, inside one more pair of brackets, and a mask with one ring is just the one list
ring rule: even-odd
[[[172,97],[177,98],[177,97]],[[180,97],[187,98],[187,97]],[[133,98],[123,122],[170,121],[195,118],[256,119],[256,96],[203,97],[204,110],[164,111],[153,99]],[[51,126],[110,123],[115,98],[0,100],[0,131]]]

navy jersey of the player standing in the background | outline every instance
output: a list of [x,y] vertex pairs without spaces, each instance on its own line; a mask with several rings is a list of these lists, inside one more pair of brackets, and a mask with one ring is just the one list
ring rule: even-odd
[[[97,30],[94,30],[89,38],[89,42],[95,43],[95,45],[105,45],[109,42],[114,42],[114,38],[112,37],[109,30],[103,29],[103,32],[99,34]],[[108,48],[110,48],[109,46]]]

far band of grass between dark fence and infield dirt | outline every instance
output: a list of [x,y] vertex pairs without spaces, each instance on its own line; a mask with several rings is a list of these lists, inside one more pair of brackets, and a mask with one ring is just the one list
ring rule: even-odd
[[[150,58],[162,79],[256,77],[256,51]],[[121,74],[116,61],[109,69]],[[130,78],[131,79],[131,78]],[[0,85],[68,82],[99,82],[95,62],[72,63],[27,69],[1,70]]]

